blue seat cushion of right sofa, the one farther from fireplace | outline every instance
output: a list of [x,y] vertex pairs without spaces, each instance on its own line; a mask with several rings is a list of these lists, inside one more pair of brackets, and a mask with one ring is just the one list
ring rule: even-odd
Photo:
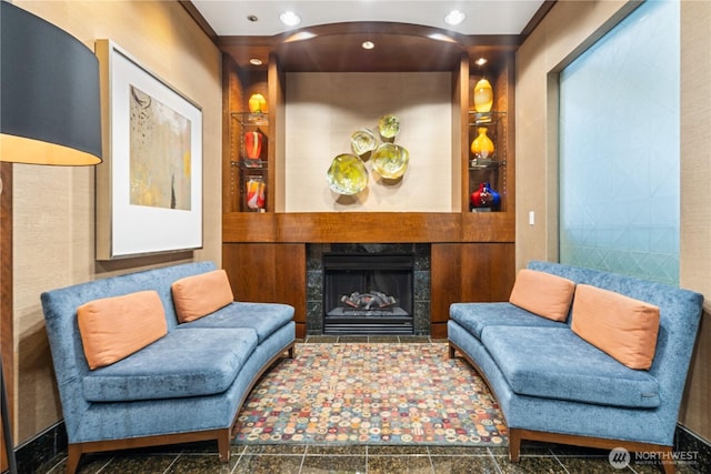
[[520,395],[634,409],[660,404],[649,372],[624,366],[572,331],[488,326],[481,342]]

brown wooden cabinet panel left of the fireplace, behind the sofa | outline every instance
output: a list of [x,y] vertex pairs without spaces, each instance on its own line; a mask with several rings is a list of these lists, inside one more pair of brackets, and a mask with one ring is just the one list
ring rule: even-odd
[[226,243],[222,268],[239,301],[284,303],[294,307],[297,337],[307,329],[304,244]]

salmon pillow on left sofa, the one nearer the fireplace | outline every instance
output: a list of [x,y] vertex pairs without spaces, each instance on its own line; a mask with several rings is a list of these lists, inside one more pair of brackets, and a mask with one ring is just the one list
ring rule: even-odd
[[207,316],[234,301],[224,270],[180,279],[172,284],[172,292],[181,323]]

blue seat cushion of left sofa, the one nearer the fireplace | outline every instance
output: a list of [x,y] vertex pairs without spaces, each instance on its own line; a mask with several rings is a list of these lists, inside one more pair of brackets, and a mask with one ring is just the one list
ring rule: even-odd
[[280,327],[293,320],[293,307],[281,303],[249,303],[237,301],[199,320],[179,326],[251,327],[261,344]]

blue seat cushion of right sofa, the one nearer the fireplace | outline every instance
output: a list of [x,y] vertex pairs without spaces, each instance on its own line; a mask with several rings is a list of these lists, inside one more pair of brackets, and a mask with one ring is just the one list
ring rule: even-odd
[[538,316],[511,303],[453,303],[449,315],[477,339],[481,331],[497,326],[535,326],[568,329],[568,324]]

